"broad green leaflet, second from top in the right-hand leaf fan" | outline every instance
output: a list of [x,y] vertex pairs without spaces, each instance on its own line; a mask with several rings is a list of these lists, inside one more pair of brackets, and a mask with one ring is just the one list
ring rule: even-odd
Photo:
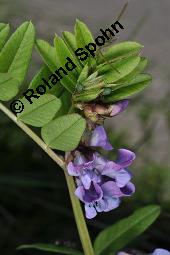
[[126,59],[119,60],[110,65],[105,65],[99,69],[106,83],[115,83],[131,73],[139,64],[140,57],[131,56]]

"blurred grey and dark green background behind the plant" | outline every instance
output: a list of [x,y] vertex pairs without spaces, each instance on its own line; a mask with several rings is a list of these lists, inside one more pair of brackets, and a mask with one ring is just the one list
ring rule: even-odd
[[[0,0],[0,22],[12,30],[25,20],[35,24],[37,38],[52,42],[54,34],[73,30],[82,19],[95,36],[117,17],[123,0]],[[151,252],[170,249],[170,1],[131,0],[121,23],[119,41],[135,40],[150,59],[152,85],[131,101],[120,116],[107,121],[114,148],[129,148],[137,159],[132,171],[137,187],[133,198],[88,221],[92,238],[136,208],[160,204],[157,222],[128,248]],[[34,53],[26,84],[41,66]],[[0,254],[21,244],[60,243],[80,248],[62,170],[0,112]],[[34,254],[39,254],[34,252]]]

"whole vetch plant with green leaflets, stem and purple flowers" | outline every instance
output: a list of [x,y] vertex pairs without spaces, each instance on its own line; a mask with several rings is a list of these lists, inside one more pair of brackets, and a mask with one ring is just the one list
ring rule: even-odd
[[[23,23],[7,40],[8,34],[9,25],[1,23],[0,100],[4,103],[0,103],[0,110],[63,169],[83,253],[47,244],[24,245],[20,249],[35,248],[75,255],[117,253],[154,222],[160,213],[159,206],[138,209],[128,218],[108,227],[97,236],[93,246],[80,201],[84,204],[86,217],[92,219],[97,213],[117,208],[123,197],[135,192],[129,171],[135,153],[120,148],[117,158],[111,161],[102,155],[102,150],[114,150],[104,129],[104,120],[127,109],[129,98],[151,82],[151,76],[143,73],[147,65],[147,59],[141,56],[143,46],[137,42],[121,42],[96,49],[94,57],[81,61],[74,54],[75,49],[84,48],[94,41],[82,21],[76,21],[74,33],[56,35],[53,46],[35,39],[31,22]],[[7,108],[6,102],[16,99],[34,46],[43,64],[28,89],[36,91],[42,78],[48,79],[49,76],[56,84],[53,72],[63,66],[67,57],[74,60],[78,68],[45,92],[39,87],[38,93],[42,95],[32,98],[32,104],[24,97],[19,98],[24,109],[15,115]],[[14,107],[15,110],[20,107],[17,101]],[[42,139],[27,124],[41,128]],[[61,151],[65,152],[65,157],[61,156]]]

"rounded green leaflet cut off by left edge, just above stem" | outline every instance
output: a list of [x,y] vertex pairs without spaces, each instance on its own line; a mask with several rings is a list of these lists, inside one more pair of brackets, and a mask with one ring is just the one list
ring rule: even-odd
[[18,80],[8,73],[0,73],[0,100],[9,101],[18,94]]

